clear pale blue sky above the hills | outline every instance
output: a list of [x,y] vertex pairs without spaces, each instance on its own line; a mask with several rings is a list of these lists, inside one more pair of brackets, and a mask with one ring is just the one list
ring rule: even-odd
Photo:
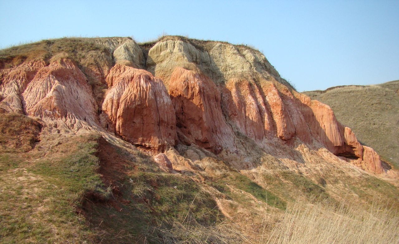
[[253,45],[298,91],[399,79],[395,1],[0,0],[0,48],[64,36]]

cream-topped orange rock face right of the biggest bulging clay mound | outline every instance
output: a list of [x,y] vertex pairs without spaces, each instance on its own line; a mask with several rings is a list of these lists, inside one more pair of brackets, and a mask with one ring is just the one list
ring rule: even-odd
[[[228,43],[208,43],[198,49],[193,43],[168,39],[150,49],[147,67],[168,84],[178,132],[201,147],[233,152],[236,138],[230,126],[225,126],[229,120],[260,146],[275,137],[285,142],[299,140],[311,148],[325,147],[338,156],[370,161],[370,165],[376,162],[377,170],[373,166],[363,168],[381,172],[381,161],[363,157],[363,146],[336,120],[329,106],[290,89],[256,51]],[[213,91],[221,93],[224,116],[219,115],[219,100]],[[212,108],[211,115],[206,108]]]

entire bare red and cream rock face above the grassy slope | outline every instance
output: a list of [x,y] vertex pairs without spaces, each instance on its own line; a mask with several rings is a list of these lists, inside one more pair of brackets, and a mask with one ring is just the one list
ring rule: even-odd
[[[181,37],[155,43],[148,55],[147,45],[128,38],[93,43],[84,57],[29,59],[12,68],[1,63],[0,107],[57,128],[107,130],[154,152],[205,148],[247,169],[259,163],[248,154],[256,147],[287,165],[314,158],[302,151],[327,149],[366,171],[384,172],[379,155],[329,106],[296,92],[259,51]],[[327,158],[340,160],[331,153]],[[159,160],[169,168],[162,155]]]

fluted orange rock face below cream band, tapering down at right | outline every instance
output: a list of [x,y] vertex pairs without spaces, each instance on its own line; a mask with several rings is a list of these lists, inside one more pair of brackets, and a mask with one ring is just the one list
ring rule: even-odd
[[258,85],[237,79],[227,83],[223,98],[228,117],[241,133],[259,144],[272,137],[284,141],[297,138],[308,146],[321,144],[335,155],[356,159],[355,164],[369,172],[383,172],[377,153],[362,146],[325,104],[286,88],[279,91],[273,83]]

